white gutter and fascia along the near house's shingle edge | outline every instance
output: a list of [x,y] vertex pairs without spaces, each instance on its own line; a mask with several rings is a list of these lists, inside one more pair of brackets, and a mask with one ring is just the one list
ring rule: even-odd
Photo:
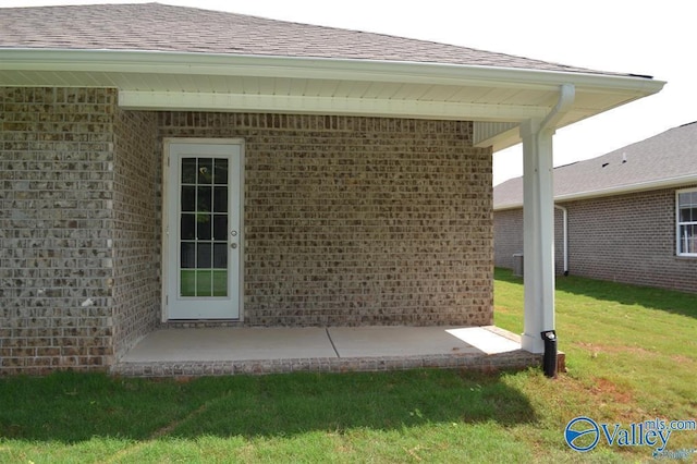
[[553,89],[564,83],[640,98],[665,84],[647,77],[401,61],[117,50],[4,49],[5,70],[236,75]]

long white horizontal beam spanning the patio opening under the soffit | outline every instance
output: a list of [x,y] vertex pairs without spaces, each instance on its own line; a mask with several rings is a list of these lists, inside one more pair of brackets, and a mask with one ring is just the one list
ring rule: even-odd
[[393,100],[377,98],[308,97],[289,95],[249,95],[184,91],[120,90],[119,106],[124,109],[303,112],[346,115],[436,118],[479,121],[543,117],[545,108],[506,105],[478,105],[443,101]]

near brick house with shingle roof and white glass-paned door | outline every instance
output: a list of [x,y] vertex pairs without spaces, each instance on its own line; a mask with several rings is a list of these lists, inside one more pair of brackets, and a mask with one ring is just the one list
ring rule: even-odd
[[663,85],[157,3],[2,9],[0,61],[0,374],[158,327],[490,325],[491,154]]

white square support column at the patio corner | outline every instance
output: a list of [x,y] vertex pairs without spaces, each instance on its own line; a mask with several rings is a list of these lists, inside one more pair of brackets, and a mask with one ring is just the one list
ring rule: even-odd
[[[553,126],[552,126],[553,127]],[[554,198],[552,135],[540,120],[521,125],[523,138],[523,350],[542,353],[541,332],[554,330]]]

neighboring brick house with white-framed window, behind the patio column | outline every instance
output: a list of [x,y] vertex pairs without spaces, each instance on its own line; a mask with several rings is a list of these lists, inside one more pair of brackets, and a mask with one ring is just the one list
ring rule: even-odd
[[[697,292],[697,123],[555,168],[554,204],[558,273]],[[493,205],[496,265],[513,268],[523,179]]]

